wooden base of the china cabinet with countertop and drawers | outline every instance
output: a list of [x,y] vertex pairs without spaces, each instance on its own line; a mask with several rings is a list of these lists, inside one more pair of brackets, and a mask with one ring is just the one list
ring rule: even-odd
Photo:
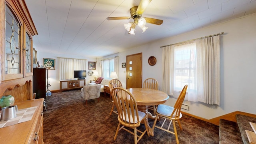
[[1,144],[43,144],[43,102],[44,99],[14,103],[19,109],[37,106],[32,119],[12,126],[0,128]]

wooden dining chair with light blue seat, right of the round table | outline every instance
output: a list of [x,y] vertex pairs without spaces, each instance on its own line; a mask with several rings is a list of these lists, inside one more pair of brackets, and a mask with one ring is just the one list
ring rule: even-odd
[[[178,97],[176,103],[174,104],[174,107],[167,106],[167,105],[164,105],[164,104],[159,104],[157,106],[156,119],[155,119],[153,127],[152,127],[153,130],[156,127],[156,128],[161,129],[161,130],[164,130],[166,132],[169,132],[171,134],[174,134],[175,137],[176,137],[176,143],[177,144],[179,144],[179,139],[178,139],[178,134],[177,134],[175,122],[178,122],[178,124],[180,126],[180,130],[182,130],[182,127],[181,127],[181,124],[180,124],[180,118],[182,118],[182,114],[180,112],[180,109],[181,109],[181,106],[182,106],[182,102],[184,101],[184,98],[186,96],[187,88],[188,88],[188,85],[185,85],[183,87],[182,91],[180,92],[180,96]],[[158,117],[165,118],[162,126],[156,126],[156,121],[158,120]],[[166,122],[166,119],[170,120],[170,124],[168,125],[168,128],[164,128],[164,123]],[[173,124],[174,132],[169,130],[171,123]]]

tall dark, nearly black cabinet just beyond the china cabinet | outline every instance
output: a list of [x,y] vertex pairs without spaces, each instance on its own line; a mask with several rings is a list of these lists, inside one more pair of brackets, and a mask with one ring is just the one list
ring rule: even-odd
[[33,73],[33,93],[36,98],[46,98],[46,68],[34,68]]

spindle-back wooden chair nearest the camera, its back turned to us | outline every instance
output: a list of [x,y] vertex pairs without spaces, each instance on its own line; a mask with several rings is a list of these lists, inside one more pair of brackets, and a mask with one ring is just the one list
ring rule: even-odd
[[[128,90],[118,87],[112,89],[111,96],[118,110],[117,119],[119,121],[114,140],[116,140],[118,132],[122,129],[134,135],[134,144],[137,144],[137,142],[142,138],[142,136],[144,136],[146,132],[149,136],[148,126],[146,125],[146,114],[138,111],[137,102],[134,96],[128,92]],[[142,121],[145,124],[145,130],[143,132],[137,130],[137,128],[140,126],[140,122]],[[125,127],[134,129],[134,132]],[[140,133],[140,136],[137,135],[137,132]]]

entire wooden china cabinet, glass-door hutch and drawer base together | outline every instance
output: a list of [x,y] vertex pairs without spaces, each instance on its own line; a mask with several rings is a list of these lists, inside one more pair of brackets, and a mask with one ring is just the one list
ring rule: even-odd
[[24,0],[0,0],[0,98],[14,96],[19,109],[36,106],[31,120],[0,128],[3,144],[43,144],[43,102],[34,100],[32,36],[36,28]]

